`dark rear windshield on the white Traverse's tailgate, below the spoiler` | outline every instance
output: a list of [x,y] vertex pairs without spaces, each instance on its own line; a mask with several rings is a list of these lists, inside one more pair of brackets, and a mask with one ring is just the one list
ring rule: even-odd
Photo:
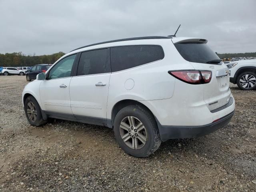
[[206,43],[175,43],[174,46],[180,55],[189,62],[207,63],[212,60],[220,60]]

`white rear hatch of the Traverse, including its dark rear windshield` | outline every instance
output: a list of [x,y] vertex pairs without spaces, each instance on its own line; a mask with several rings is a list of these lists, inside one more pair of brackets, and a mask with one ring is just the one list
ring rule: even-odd
[[201,84],[204,92],[204,102],[210,111],[220,108],[230,100],[229,70],[218,55],[206,44],[207,40],[188,38],[172,39],[180,55],[194,67],[195,70],[212,71],[212,79],[207,84]]

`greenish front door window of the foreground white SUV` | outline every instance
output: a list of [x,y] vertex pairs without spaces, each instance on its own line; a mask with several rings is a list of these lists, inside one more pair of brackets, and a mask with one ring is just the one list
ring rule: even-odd
[[76,54],[60,60],[49,72],[48,79],[70,77]]

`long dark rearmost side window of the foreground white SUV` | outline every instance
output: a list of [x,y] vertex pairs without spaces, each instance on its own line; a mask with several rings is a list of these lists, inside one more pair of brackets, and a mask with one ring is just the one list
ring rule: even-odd
[[164,58],[161,46],[141,45],[110,48],[112,72],[133,68]]

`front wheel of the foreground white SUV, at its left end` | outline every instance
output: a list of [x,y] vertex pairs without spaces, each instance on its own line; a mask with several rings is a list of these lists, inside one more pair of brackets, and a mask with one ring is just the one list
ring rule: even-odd
[[47,123],[47,120],[43,119],[41,108],[34,97],[26,98],[24,110],[30,125],[38,127]]

